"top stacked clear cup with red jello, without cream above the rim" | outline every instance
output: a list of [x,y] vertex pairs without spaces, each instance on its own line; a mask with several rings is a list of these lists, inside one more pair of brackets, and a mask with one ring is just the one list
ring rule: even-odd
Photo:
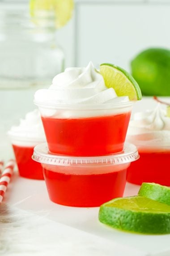
[[38,106],[52,153],[99,156],[123,150],[134,102]]

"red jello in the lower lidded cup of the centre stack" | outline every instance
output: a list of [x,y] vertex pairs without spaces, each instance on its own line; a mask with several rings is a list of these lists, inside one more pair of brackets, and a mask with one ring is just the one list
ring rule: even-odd
[[[81,174],[82,167],[68,167],[68,171],[65,169],[63,166],[57,166],[51,171],[51,166],[43,165],[49,197],[55,203],[95,207],[115,197],[123,196],[127,164],[121,168],[91,166],[91,174],[89,168],[86,168],[87,174],[85,172]],[[101,173],[98,173],[99,169]]]

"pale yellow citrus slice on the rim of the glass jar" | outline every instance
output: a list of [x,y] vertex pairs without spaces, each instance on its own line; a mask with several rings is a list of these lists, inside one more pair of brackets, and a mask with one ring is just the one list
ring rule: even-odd
[[30,14],[34,22],[41,24],[43,14],[47,12],[46,14],[53,14],[55,17],[56,28],[64,26],[69,21],[73,7],[73,0],[30,0]]

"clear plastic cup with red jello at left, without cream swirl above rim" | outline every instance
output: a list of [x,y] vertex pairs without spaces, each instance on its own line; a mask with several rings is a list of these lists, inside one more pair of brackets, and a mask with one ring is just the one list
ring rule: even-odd
[[32,159],[34,147],[44,140],[36,140],[35,138],[23,138],[19,136],[9,135],[15,154],[18,172],[21,177],[43,180],[43,171],[40,163],[36,163]]

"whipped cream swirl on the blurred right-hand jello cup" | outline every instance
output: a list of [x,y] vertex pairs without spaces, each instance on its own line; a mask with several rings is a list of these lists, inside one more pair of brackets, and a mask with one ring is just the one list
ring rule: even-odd
[[170,146],[170,118],[166,116],[166,111],[161,109],[160,103],[154,110],[134,114],[127,130],[127,141],[157,146],[159,143],[169,143]]

